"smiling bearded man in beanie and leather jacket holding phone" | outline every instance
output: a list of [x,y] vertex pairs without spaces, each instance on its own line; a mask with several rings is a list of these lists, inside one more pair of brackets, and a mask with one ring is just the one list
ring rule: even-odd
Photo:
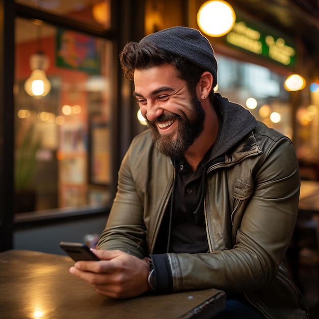
[[121,52],[150,129],[132,141],[100,236],[70,272],[112,298],[218,288],[216,318],[306,318],[284,257],[298,211],[290,140],[214,93],[217,62],[176,26]]

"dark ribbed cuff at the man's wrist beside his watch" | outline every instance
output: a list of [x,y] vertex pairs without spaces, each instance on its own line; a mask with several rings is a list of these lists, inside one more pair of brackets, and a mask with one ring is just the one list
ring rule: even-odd
[[155,276],[155,295],[173,293],[173,276],[167,254],[150,255]]

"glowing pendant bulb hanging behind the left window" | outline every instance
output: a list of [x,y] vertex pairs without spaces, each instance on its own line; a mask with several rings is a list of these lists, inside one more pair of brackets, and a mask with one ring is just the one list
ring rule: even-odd
[[[38,25],[38,47],[40,46],[39,42],[41,38],[40,28],[41,26]],[[38,49],[38,51],[30,57],[30,68],[32,72],[24,83],[24,90],[30,96],[40,98],[46,96],[50,92],[51,84],[45,74],[48,66],[49,58],[41,50]]]

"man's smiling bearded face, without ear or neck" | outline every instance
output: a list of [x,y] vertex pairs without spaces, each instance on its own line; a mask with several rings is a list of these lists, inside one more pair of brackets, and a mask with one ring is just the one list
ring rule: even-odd
[[182,156],[204,128],[205,112],[187,83],[170,64],[135,70],[135,92],[141,113],[163,154]]

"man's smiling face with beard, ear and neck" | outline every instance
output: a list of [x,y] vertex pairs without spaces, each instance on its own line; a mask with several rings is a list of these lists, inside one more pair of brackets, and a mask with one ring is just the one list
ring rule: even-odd
[[134,95],[152,129],[155,148],[172,158],[185,156],[194,162],[196,157],[200,162],[218,132],[217,115],[208,99],[211,73],[201,74],[197,88],[201,102],[191,96],[185,81],[168,63],[136,70],[134,83]]

